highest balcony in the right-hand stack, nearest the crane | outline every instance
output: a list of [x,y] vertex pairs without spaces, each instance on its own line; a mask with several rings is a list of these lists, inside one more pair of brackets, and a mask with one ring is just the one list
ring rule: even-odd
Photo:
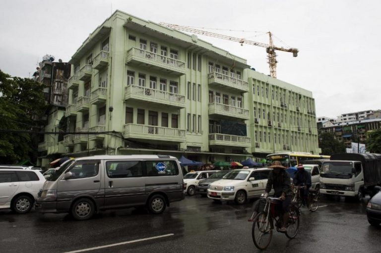
[[249,92],[249,83],[218,72],[208,74],[208,84],[215,88],[225,88],[235,92]]

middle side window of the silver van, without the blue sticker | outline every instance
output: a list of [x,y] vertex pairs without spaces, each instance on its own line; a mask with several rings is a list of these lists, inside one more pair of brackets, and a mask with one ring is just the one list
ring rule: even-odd
[[109,178],[141,177],[143,175],[141,161],[108,161],[106,172]]

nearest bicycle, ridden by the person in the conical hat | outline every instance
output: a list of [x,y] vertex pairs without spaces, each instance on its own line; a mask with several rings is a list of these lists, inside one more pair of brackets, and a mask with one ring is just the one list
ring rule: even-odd
[[[280,202],[279,198],[261,198],[265,200],[265,205],[262,211],[256,214],[254,210],[249,221],[253,221],[252,238],[256,248],[264,250],[268,247],[274,230],[274,220],[276,231],[282,227],[282,219],[279,217],[279,211],[276,209],[276,204]],[[254,217],[253,217],[254,216]],[[299,208],[294,203],[289,206],[289,219],[287,222],[286,236],[290,239],[295,238],[299,231]],[[281,232],[283,233],[283,232]]]

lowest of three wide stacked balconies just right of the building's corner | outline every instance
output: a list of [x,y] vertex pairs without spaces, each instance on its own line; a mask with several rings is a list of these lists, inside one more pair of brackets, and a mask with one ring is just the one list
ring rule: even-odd
[[124,138],[145,139],[151,141],[185,142],[185,130],[178,128],[126,124]]

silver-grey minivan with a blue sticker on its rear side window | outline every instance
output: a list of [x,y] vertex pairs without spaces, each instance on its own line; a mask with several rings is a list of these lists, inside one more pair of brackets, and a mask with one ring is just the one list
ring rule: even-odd
[[95,212],[146,206],[162,213],[185,197],[179,161],[169,155],[95,155],[64,163],[38,194],[41,212],[69,212],[77,220]]

